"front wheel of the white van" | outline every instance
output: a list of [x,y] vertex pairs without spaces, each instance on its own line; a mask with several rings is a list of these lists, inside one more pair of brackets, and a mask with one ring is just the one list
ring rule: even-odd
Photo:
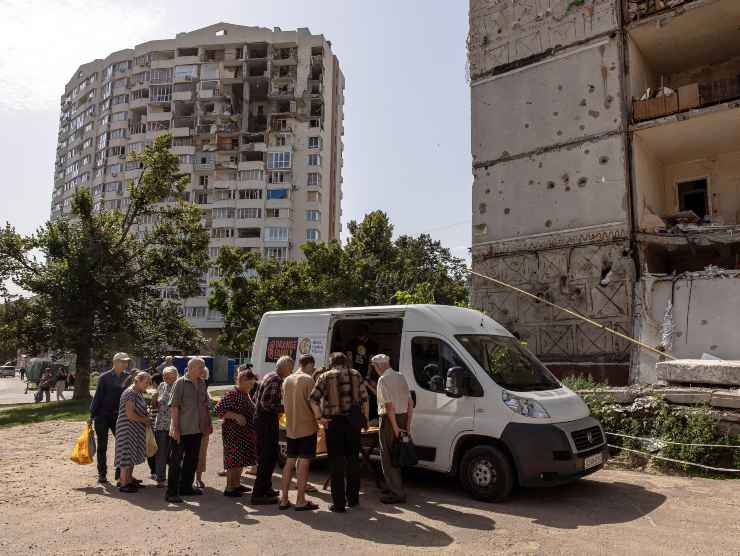
[[476,446],[463,456],[460,482],[476,500],[501,502],[514,486],[514,470],[495,446]]

